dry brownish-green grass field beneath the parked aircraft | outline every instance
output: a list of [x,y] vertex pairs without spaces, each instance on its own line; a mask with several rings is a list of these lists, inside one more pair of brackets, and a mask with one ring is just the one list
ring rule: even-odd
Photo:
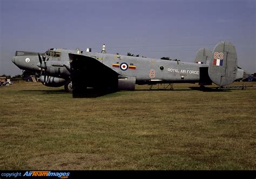
[[0,169],[255,170],[256,87],[190,86],[82,99],[40,83],[0,87]]

